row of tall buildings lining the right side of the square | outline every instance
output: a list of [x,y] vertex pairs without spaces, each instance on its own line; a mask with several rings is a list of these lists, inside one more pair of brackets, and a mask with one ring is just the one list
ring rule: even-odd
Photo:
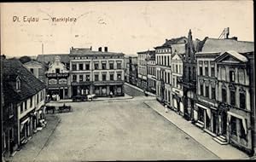
[[[229,38],[166,39],[137,52],[137,86],[220,144],[256,152],[254,43]],[[126,69],[130,76],[131,69]],[[134,74],[133,74],[134,75]],[[136,80],[136,79],[135,79]],[[126,79],[131,83],[131,79]]]

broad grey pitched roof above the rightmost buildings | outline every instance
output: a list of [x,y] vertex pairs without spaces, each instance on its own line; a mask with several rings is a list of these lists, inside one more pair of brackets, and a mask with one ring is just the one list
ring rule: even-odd
[[201,52],[225,52],[235,50],[238,53],[254,51],[253,42],[237,41],[235,39],[207,38]]

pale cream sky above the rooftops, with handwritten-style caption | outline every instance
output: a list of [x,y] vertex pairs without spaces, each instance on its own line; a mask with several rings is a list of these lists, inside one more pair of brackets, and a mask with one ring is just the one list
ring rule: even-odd
[[[166,39],[187,37],[189,29],[193,39],[202,40],[218,38],[230,27],[230,37],[253,41],[253,1],[249,0],[0,5],[1,55],[7,56],[67,54],[71,47],[90,46],[93,50],[108,46],[108,51],[136,55]],[[30,17],[38,21],[28,22]],[[52,18],[76,21],[56,22]]]

